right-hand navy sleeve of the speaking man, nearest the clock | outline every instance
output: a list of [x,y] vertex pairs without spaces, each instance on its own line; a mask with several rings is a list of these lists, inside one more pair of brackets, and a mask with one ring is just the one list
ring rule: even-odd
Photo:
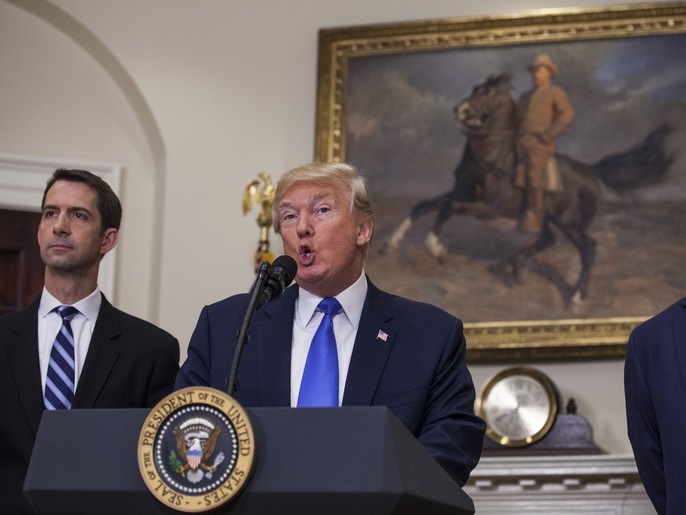
[[464,485],[479,462],[486,425],[474,414],[474,384],[466,366],[462,323],[456,320],[435,371],[419,441]]

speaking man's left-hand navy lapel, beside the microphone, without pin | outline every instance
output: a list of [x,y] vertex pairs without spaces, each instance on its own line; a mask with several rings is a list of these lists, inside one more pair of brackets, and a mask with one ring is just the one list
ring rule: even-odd
[[260,403],[291,405],[291,342],[298,287],[286,288],[275,301],[255,313],[251,340],[257,353]]

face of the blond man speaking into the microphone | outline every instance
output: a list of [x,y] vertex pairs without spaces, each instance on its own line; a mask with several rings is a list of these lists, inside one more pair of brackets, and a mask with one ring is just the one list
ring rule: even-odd
[[298,285],[328,297],[359,278],[372,227],[353,219],[343,191],[296,184],[283,195],[278,213],[284,251],[298,263]]

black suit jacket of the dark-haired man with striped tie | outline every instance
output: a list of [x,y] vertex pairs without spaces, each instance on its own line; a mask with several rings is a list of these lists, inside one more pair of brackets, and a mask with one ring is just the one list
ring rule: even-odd
[[[22,486],[43,413],[39,300],[0,317],[0,511],[6,514],[31,513]],[[73,409],[152,407],[172,391],[178,363],[176,338],[103,295]]]

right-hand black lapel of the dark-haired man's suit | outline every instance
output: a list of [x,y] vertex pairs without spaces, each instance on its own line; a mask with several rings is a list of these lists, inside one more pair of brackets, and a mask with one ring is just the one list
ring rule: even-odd
[[115,310],[103,295],[86,361],[76,386],[74,408],[93,407],[119,356],[119,344],[115,339],[119,334]]

